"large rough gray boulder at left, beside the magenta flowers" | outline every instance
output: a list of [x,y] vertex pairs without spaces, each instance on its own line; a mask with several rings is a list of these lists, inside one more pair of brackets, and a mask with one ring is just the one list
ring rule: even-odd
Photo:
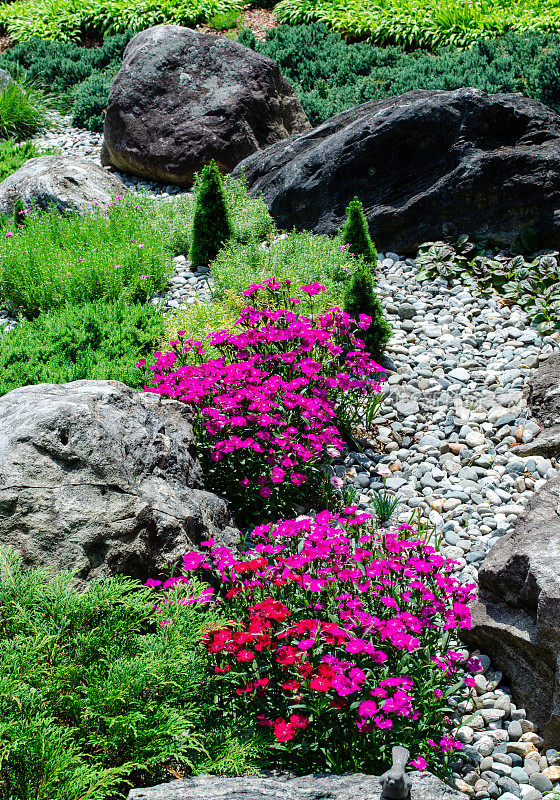
[[158,577],[201,540],[233,543],[204,491],[187,408],[118,381],[14,389],[0,398],[0,545],[77,583]]

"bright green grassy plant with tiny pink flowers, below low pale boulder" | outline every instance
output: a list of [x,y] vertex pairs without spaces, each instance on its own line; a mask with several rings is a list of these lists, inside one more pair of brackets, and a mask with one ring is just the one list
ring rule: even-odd
[[171,209],[130,192],[105,209],[31,211],[0,224],[0,297],[15,313],[94,300],[145,300],[172,271]]

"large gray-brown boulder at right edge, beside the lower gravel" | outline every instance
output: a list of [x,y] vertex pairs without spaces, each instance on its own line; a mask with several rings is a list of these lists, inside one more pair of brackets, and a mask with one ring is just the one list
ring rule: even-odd
[[550,747],[560,748],[560,478],[527,505],[479,573],[465,640],[511,682]]

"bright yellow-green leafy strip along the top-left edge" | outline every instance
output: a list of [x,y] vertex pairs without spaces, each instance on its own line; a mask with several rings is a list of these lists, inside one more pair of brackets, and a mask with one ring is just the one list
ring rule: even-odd
[[153,25],[195,26],[241,10],[240,0],[15,0],[0,7],[0,25],[18,42],[34,36],[77,42],[84,30],[102,34]]

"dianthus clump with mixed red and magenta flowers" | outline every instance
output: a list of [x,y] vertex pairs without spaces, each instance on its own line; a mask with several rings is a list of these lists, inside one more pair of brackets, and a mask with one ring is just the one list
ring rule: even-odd
[[[442,774],[461,745],[448,701],[480,669],[455,649],[474,586],[409,526],[376,531],[356,507],[265,524],[242,555],[205,543],[184,557],[218,584],[222,616],[204,648],[216,711],[268,738],[267,763],[374,772],[395,744]],[[151,582],[157,585],[157,582]]]

